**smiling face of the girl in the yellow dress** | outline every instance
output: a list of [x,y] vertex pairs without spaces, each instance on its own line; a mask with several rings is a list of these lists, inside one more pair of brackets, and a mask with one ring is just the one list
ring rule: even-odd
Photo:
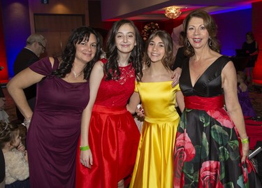
[[159,36],[152,38],[147,48],[147,55],[151,62],[162,62],[166,53],[165,45]]

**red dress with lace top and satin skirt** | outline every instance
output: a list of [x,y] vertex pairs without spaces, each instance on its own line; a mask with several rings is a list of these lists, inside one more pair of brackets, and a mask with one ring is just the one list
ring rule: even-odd
[[[101,59],[105,64],[106,59]],[[131,64],[120,67],[119,80],[101,80],[89,124],[89,147],[92,168],[76,159],[76,187],[112,188],[133,171],[140,133],[126,103],[135,88]],[[80,143],[78,143],[78,148]]]

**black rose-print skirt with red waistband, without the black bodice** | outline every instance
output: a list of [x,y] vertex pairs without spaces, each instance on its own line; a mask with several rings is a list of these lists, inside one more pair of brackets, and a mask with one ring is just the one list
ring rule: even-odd
[[175,140],[174,187],[245,187],[238,133],[222,97],[198,98],[185,99]]

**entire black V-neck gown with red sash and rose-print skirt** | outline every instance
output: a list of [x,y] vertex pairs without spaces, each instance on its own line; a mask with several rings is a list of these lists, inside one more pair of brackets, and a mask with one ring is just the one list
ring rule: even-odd
[[191,84],[189,61],[182,64],[180,89],[185,109],[173,154],[174,188],[247,188],[238,131],[224,108],[221,71],[229,61],[219,57],[195,85]]

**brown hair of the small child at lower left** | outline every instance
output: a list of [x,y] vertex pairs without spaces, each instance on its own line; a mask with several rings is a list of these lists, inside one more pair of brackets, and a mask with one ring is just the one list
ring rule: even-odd
[[15,142],[17,133],[19,133],[19,126],[17,124],[7,124],[0,121],[0,147],[3,149],[8,142],[12,145]]

